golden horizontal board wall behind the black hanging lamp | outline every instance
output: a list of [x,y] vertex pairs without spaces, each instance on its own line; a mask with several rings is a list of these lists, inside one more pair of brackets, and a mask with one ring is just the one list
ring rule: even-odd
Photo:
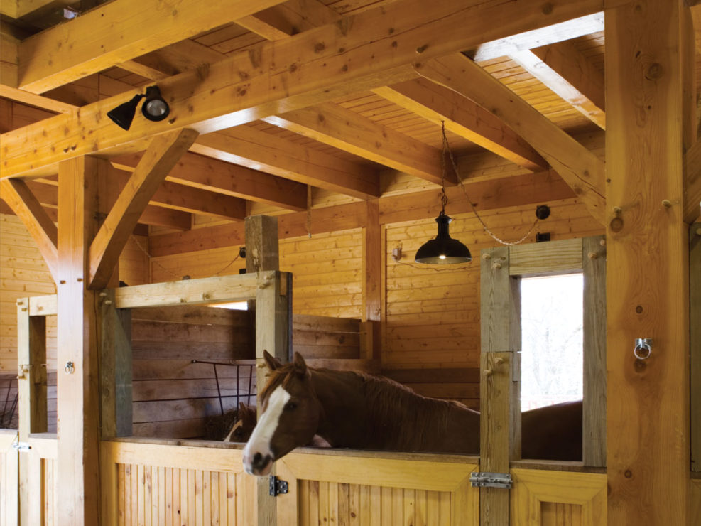
[[[551,215],[536,232],[550,232],[552,240],[602,233],[602,227],[577,200],[550,205]],[[533,225],[535,207],[513,207],[482,218],[501,239],[517,240]],[[450,214],[450,203],[447,205]],[[496,246],[474,215],[455,215],[450,235],[464,242],[472,262],[441,268],[413,262],[416,250],[435,237],[433,221],[407,222],[387,227],[386,328],[382,367],[479,367],[479,252]],[[395,262],[391,251],[402,247]]]

